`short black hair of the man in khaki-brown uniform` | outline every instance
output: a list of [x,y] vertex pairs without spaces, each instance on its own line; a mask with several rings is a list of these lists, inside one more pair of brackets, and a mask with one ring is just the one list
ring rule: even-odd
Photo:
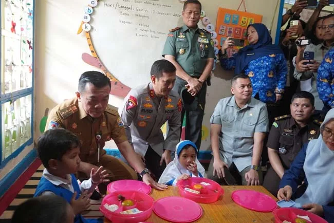
[[85,91],[87,83],[93,84],[95,87],[102,88],[105,86],[112,87],[110,84],[110,79],[99,71],[86,71],[82,73],[79,78],[78,91],[80,93]]

